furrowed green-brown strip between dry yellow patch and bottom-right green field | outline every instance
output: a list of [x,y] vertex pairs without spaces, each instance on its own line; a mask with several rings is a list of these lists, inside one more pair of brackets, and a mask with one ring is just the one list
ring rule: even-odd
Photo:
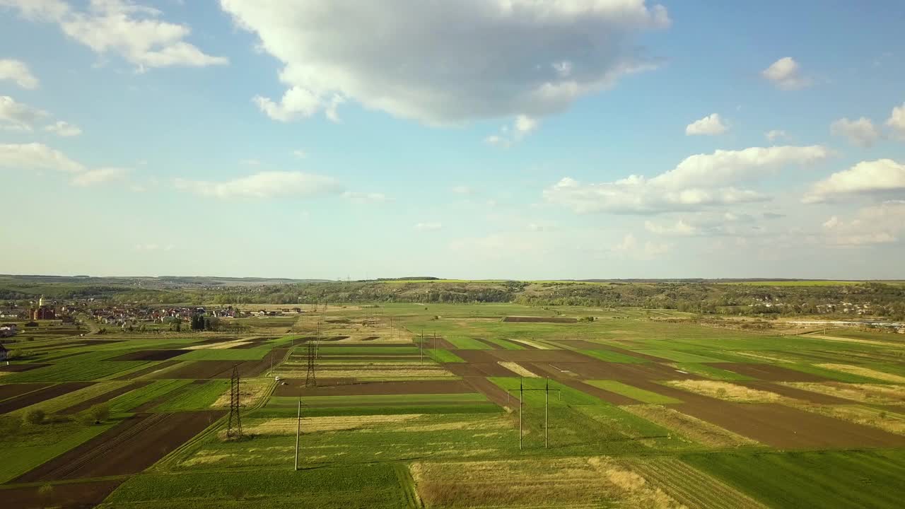
[[689,509],[767,509],[748,495],[674,457],[629,460],[627,465]]

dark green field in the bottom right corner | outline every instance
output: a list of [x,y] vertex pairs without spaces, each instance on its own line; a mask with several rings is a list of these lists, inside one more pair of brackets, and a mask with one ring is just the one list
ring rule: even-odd
[[776,508],[898,508],[905,451],[710,453],[682,456]]

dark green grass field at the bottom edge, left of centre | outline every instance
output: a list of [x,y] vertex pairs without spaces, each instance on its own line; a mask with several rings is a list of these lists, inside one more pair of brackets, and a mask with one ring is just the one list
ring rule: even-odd
[[345,509],[404,508],[405,494],[392,465],[356,465],[293,472],[271,469],[236,472],[136,475],[100,507],[216,508],[306,506]]

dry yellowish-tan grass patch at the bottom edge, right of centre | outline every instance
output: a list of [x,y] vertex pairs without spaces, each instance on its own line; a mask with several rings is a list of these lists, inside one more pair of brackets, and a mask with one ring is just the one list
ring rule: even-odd
[[428,507],[618,505],[680,509],[662,489],[605,456],[464,463],[414,463],[415,488]]

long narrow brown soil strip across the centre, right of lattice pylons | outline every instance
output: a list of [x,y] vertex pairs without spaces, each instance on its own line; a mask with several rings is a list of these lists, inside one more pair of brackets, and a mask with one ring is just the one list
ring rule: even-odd
[[[273,396],[358,396],[367,394],[462,394],[473,392],[462,380],[406,380],[360,382],[321,387],[304,387],[304,379],[282,380]],[[332,380],[331,380],[332,381]]]

